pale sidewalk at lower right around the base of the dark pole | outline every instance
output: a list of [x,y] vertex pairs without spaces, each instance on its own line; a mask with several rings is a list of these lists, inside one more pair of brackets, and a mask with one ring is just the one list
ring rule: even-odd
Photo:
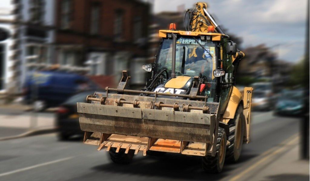
[[266,151],[230,181],[291,181],[309,180],[309,159],[299,158],[299,136]]

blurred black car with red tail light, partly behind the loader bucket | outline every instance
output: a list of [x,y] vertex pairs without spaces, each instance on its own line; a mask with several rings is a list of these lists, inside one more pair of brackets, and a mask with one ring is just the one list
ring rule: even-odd
[[68,140],[73,135],[83,135],[78,120],[77,102],[86,102],[86,96],[93,95],[94,93],[95,91],[78,93],[60,105],[56,116],[60,140]]

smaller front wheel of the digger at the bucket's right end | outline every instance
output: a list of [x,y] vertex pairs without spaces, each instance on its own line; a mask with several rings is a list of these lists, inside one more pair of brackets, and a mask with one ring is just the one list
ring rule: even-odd
[[210,155],[202,157],[202,168],[207,173],[219,173],[223,170],[226,154],[226,133],[223,128],[219,128],[217,134],[215,157]]

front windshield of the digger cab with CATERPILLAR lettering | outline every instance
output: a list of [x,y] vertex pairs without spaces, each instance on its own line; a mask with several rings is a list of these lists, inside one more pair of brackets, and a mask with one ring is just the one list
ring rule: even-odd
[[[197,38],[196,38],[197,39]],[[198,40],[203,49],[191,36],[180,36],[176,42],[176,76],[202,76],[206,82],[213,82],[212,70],[215,68],[215,43],[210,40]],[[171,74],[172,39],[164,39],[157,60],[157,72],[167,69]]]

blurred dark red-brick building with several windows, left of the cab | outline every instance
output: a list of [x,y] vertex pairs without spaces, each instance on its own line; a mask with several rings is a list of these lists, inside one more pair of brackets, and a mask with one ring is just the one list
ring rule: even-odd
[[61,67],[94,76],[131,74],[144,84],[149,5],[138,0],[57,0],[56,58]]

